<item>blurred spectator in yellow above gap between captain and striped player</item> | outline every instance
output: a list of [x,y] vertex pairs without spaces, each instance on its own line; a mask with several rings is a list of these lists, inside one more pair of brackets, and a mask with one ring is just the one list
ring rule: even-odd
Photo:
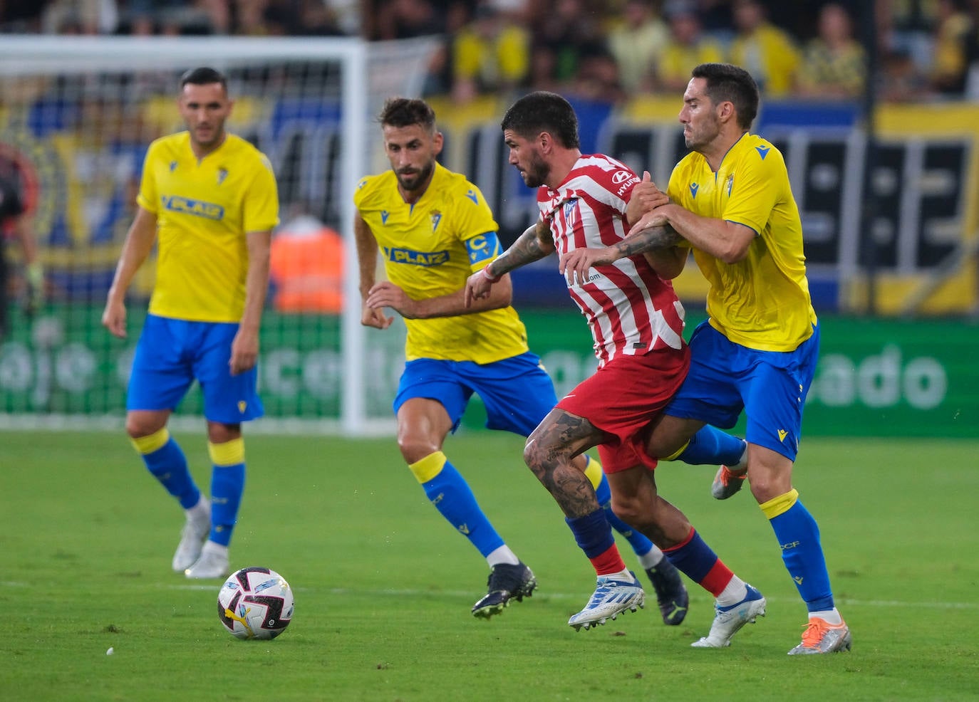
[[523,83],[530,73],[530,43],[526,28],[492,4],[481,4],[452,42],[453,99],[469,102]]

